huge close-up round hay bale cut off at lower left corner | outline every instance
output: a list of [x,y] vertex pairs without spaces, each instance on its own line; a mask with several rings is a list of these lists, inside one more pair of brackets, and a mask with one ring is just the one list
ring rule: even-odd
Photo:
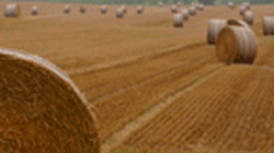
[[56,66],[0,48],[0,151],[99,153],[94,108]]

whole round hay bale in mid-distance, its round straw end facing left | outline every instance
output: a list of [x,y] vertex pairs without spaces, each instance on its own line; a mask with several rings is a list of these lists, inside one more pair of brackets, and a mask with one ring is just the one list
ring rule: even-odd
[[256,38],[251,28],[226,26],[216,43],[217,57],[220,61],[252,63],[256,56]]

